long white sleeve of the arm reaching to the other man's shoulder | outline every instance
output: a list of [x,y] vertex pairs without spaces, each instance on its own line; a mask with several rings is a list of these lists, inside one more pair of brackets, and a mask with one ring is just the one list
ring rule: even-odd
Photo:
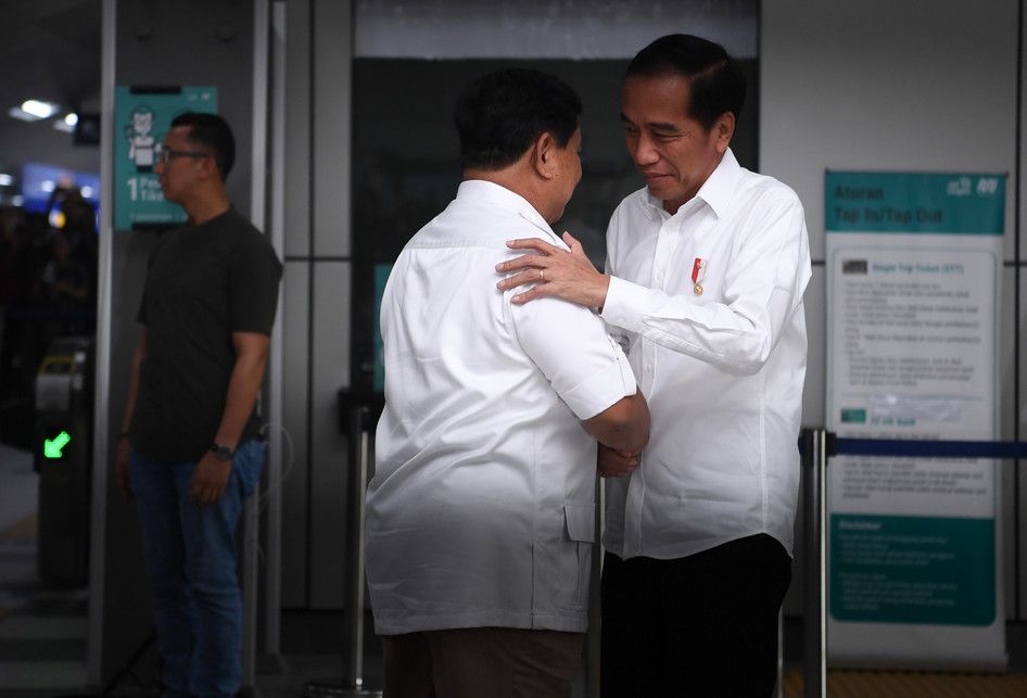
[[735,375],[762,368],[801,306],[811,276],[806,216],[790,190],[771,190],[725,270],[723,301],[668,294],[611,277],[603,318]]

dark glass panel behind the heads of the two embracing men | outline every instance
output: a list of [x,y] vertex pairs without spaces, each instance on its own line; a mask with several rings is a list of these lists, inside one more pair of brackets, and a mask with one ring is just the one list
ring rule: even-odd
[[[518,65],[557,75],[581,94],[582,180],[557,232],[568,230],[601,268],[606,227],[621,199],[642,187],[624,149],[621,84],[627,60],[358,59],[353,63],[353,385],[375,385],[376,268],[453,200],[460,182],[453,106],[478,76]],[[741,61],[749,84],[733,149],[757,167],[757,62]],[[379,284],[380,285],[380,284]],[[380,383],[379,383],[380,389]]]

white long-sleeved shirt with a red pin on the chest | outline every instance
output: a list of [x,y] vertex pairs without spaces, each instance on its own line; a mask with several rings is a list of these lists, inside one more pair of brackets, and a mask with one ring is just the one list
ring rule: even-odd
[[671,559],[768,533],[790,554],[811,274],[795,192],[728,150],[673,216],[646,189],[625,198],[607,251],[603,317],[651,428],[638,469],[606,481],[604,544]]

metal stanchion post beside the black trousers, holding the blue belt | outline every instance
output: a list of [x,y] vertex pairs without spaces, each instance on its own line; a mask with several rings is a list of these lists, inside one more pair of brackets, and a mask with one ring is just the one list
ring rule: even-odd
[[826,521],[824,496],[827,467],[827,431],[806,430],[802,433],[802,496],[806,506],[804,536],[804,638],[803,695],[806,698],[827,696],[827,574]]

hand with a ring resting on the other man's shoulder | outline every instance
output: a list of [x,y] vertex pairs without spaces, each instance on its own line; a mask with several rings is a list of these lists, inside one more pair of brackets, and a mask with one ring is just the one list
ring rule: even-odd
[[534,283],[534,287],[511,299],[517,304],[549,295],[589,308],[603,307],[610,278],[592,266],[584,248],[571,233],[563,233],[563,242],[571,249],[570,252],[538,238],[510,240],[506,244],[511,250],[534,250],[537,254],[525,254],[497,264],[496,271],[499,274],[517,274],[503,279],[496,287],[506,291]]

